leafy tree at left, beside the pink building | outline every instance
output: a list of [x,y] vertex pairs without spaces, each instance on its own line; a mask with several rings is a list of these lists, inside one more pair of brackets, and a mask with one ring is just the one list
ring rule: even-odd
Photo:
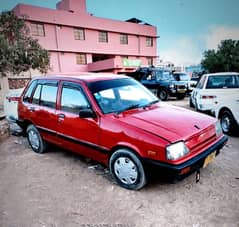
[[30,36],[24,18],[12,11],[0,14],[0,72],[19,74],[29,69],[46,73],[50,58],[36,39]]

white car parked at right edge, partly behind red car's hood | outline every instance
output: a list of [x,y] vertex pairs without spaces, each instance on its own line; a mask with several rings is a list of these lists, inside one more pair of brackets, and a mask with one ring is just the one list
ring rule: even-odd
[[220,119],[223,132],[234,134],[239,125],[239,73],[205,74],[190,97],[190,106]]

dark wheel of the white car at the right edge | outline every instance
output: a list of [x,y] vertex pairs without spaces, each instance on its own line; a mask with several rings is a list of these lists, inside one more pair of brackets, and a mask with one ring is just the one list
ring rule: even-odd
[[236,129],[236,121],[229,110],[224,110],[220,117],[222,131],[228,135],[232,135]]

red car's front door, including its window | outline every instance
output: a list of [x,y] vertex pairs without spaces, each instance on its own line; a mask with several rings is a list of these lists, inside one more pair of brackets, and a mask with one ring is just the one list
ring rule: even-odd
[[72,82],[61,83],[61,96],[57,110],[57,136],[63,147],[100,161],[105,152],[99,147],[99,117],[82,116],[92,105],[83,88]]

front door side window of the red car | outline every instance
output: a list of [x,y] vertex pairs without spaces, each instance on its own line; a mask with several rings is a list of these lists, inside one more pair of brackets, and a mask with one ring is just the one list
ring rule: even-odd
[[88,109],[90,105],[81,89],[63,87],[61,94],[61,110],[79,114],[80,110]]

